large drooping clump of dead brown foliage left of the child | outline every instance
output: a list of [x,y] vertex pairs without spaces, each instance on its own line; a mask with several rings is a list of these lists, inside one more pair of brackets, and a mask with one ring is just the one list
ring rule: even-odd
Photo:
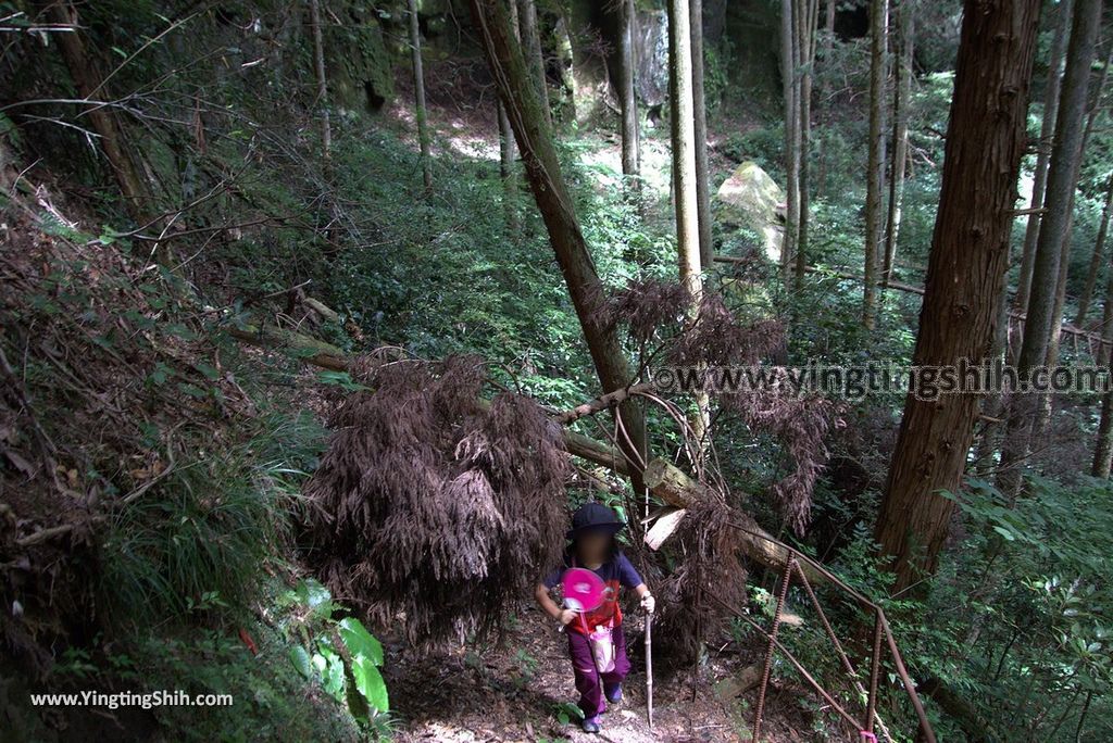
[[362,364],[305,488],[323,579],[414,645],[496,630],[562,546],[560,429],[519,395],[483,406],[483,369]]

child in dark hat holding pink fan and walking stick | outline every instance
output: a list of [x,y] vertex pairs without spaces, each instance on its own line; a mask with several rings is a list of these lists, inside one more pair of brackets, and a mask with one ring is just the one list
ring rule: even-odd
[[[624,526],[613,511],[600,503],[587,503],[572,516],[571,541],[564,552],[563,565],[538,584],[534,597],[543,610],[556,620],[568,635],[568,653],[572,660],[575,687],[580,692],[584,732],[598,733],[599,716],[607,710],[607,702],[622,700],[622,680],[630,672],[622,634],[622,612],[619,608],[619,588],[633,588],[641,598],[641,607],[653,613],[653,596],[638,575],[630,561],[619,552],[614,535]],[[549,592],[561,582],[570,567],[593,571],[605,585],[604,600],[599,608],[578,612],[562,608]],[[609,634],[609,637],[608,637]],[[599,666],[593,644],[607,643],[602,650],[604,666]]]

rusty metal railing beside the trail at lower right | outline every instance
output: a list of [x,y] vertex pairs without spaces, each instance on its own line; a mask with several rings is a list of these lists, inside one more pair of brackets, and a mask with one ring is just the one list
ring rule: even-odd
[[[923,733],[923,740],[926,743],[935,743],[935,731],[932,729],[932,723],[927,719],[927,714],[924,711],[924,703],[920,701],[919,695],[916,693],[916,685],[913,683],[912,677],[908,675],[908,670],[905,667],[904,658],[900,656],[900,651],[897,648],[896,640],[893,637],[893,631],[889,627],[888,618],[885,616],[885,611],[880,606],[871,602],[866,596],[861,595],[859,592],[855,591],[846,583],[840,581],[830,571],[825,568],[820,563],[802,554],[798,549],[794,548],[791,545],[785,544],[779,539],[770,537],[768,534],[751,529],[742,524],[737,524],[730,522],[731,528],[745,532],[750,536],[755,536],[765,542],[776,544],[788,554],[788,559],[785,562],[785,567],[781,571],[780,584],[777,591],[777,604],[772,617],[772,626],[766,630],[757,622],[755,622],[748,614],[739,610],[738,607],[730,606],[725,601],[716,595],[711,595],[711,600],[718,603],[722,608],[735,614],[739,618],[747,622],[750,626],[756,628],[767,638],[765,661],[761,666],[761,684],[758,688],[758,703],[754,713],[754,735],[752,740],[755,743],[761,740],[761,723],[765,714],[765,700],[766,691],[769,685],[769,676],[772,670],[772,657],[776,651],[780,651],[789,660],[789,662],[796,667],[800,676],[816,691],[819,696],[824,699],[830,707],[838,713],[848,724],[853,725],[859,731],[859,737],[876,742],[877,735],[874,732],[875,727],[883,735],[883,740],[893,740],[885,723],[881,721],[880,716],[877,714],[877,682],[880,675],[881,665],[881,641],[884,640],[888,646],[889,655],[893,660],[894,668],[897,675],[900,677],[900,682],[904,685],[905,694],[912,702],[913,709],[916,711],[916,717],[919,721],[919,730]],[[873,653],[869,658],[869,688],[866,690],[858,678],[858,672],[854,667],[854,663],[850,661],[843,643],[839,642],[838,635],[835,634],[835,630],[831,627],[830,622],[827,618],[827,614],[824,612],[823,606],[819,604],[819,598],[816,596],[816,592],[811,586],[811,582],[808,581],[807,572],[804,569],[802,565],[808,565],[814,574],[823,576],[825,579],[830,582],[831,585],[840,588],[844,593],[854,598],[859,605],[867,607],[874,613],[874,642],[873,642]],[[834,695],[828,692],[824,686],[812,676],[804,664],[792,655],[792,653],[785,647],[785,645],[777,638],[778,631],[781,624],[781,616],[785,611],[785,600],[788,596],[788,588],[792,583],[792,579],[798,578],[804,586],[808,598],[811,602],[812,607],[816,610],[816,614],[819,616],[819,621],[823,624],[824,631],[827,633],[828,640],[835,647],[838,654],[839,662],[841,663],[844,670],[849,674],[856,691],[866,697],[866,710],[865,710],[865,721],[855,717],[853,714],[847,712],[834,697]]]

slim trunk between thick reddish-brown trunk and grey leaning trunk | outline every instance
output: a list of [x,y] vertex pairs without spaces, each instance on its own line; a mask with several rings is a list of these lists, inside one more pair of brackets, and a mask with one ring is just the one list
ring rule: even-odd
[[[1044,191],[1047,188],[1047,164],[1051,160],[1052,137],[1055,133],[1055,123],[1058,120],[1058,92],[1063,81],[1063,57],[1066,55],[1066,41],[1071,37],[1071,18],[1074,0],[1061,0],[1058,3],[1058,22],[1055,24],[1055,36],[1052,38],[1051,56],[1047,62],[1047,85],[1044,90],[1044,117],[1040,125],[1038,153],[1036,155],[1036,169],[1032,174],[1032,202],[1030,209],[1040,209],[1044,206]],[[1032,289],[1032,266],[1036,257],[1036,241],[1040,239],[1040,225],[1042,215],[1028,215],[1027,226],[1024,230],[1024,250],[1021,254],[1021,276],[1016,284],[1016,299],[1013,307],[1024,313],[1028,309],[1028,295]],[[1018,345],[1012,343],[1009,347]],[[1015,354],[1014,354],[1015,356]],[[1011,364],[1016,363],[1016,358],[1009,358]]]

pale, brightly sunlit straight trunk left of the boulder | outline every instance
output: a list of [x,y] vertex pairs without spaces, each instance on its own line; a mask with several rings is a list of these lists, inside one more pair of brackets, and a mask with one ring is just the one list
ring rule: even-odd
[[[680,281],[691,297],[689,316],[699,313],[703,296],[701,277],[696,122],[692,81],[692,18],[689,0],[669,2],[669,77],[672,90],[672,187],[677,216],[677,254]],[[708,400],[697,396],[690,424],[702,445],[708,425]],[[702,448],[702,446],[701,446]]]

